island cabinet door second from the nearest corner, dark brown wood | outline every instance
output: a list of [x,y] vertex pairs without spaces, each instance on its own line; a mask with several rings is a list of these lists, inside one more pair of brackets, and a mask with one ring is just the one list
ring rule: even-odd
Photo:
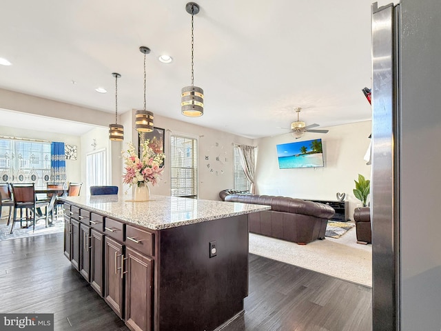
[[118,241],[104,237],[104,300],[121,319],[124,318],[124,274],[121,270],[123,249],[124,246]]

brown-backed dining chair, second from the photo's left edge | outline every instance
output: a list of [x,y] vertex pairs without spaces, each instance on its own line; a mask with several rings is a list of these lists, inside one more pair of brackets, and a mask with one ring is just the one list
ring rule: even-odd
[[[35,231],[35,223],[41,219],[45,218],[45,225],[48,227],[48,211],[49,202],[48,201],[37,201],[35,197],[35,186],[34,183],[30,184],[11,184],[12,186],[12,196],[14,197],[14,217],[12,219],[11,232],[14,230],[14,222],[20,222],[22,225],[23,221],[32,221],[32,231]],[[37,215],[37,208],[45,213],[41,216]],[[20,217],[17,218],[17,210],[20,210]],[[23,213],[24,210],[24,213]]]

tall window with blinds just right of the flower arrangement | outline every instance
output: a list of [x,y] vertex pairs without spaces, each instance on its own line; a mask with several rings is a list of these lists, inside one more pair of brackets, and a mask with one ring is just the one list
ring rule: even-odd
[[196,199],[198,196],[198,141],[170,136],[170,172],[172,197]]

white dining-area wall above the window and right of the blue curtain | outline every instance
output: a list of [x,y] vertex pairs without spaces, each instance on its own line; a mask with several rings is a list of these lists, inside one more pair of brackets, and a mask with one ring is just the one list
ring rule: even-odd
[[78,158],[76,160],[66,160],[66,176],[68,181],[81,181],[81,139],[78,136],[69,134],[57,134],[52,132],[43,132],[37,130],[22,130],[17,128],[8,128],[0,126],[0,136],[19,137],[28,139],[41,139],[47,141],[61,141],[69,145],[77,146]]

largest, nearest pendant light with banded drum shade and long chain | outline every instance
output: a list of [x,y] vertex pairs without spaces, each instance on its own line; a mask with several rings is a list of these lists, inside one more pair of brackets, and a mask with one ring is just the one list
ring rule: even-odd
[[204,91],[202,88],[194,86],[194,27],[193,17],[199,12],[197,3],[189,2],[185,6],[185,10],[192,15],[192,85],[185,86],[181,90],[181,113],[188,117],[198,117],[204,114]]

